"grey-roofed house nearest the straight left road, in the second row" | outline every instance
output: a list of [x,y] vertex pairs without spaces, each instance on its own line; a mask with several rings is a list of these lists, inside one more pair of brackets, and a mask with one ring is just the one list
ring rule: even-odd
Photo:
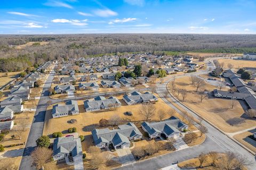
[[78,115],[79,108],[76,100],[67,101],[66,105],[57,104],[52,107],[52,117],[63,117],[68,115]]

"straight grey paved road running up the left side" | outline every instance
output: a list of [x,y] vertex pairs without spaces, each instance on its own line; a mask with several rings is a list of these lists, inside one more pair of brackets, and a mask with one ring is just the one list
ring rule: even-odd
[[47,78],[44,84],[41,97],[38,101],[34,120],[33,120],[33,123],[31,124],[26,147],[22,155],[22,159],[19,167],[20,170],[35,169],[35,167],[31,166],[32,160],[31,160],[30,154],[31,154],[31,151],[33,151],[34,148],[36,147],[36,140],[39,137],[41,137],[41,135],[43,134],[44,118],[45,118],[46,102],[47,102],[47,100],[45,99],[47,99],[49,96],[48,90],[51,87],[53,78],[54,78],[54,71],[51,71],[49,74],[49,77]]

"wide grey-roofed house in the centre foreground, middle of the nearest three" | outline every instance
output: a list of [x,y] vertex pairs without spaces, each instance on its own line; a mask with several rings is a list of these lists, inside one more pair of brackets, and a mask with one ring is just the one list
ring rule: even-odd
[[130,147],[130,141],[140,140],[142,134],[133,123],[127,123],[119,125],[117,129],[113,130],[94,129],[92,138],[94,145],[98,148],[106,148],[112,144],[115,149],[123,149]]

